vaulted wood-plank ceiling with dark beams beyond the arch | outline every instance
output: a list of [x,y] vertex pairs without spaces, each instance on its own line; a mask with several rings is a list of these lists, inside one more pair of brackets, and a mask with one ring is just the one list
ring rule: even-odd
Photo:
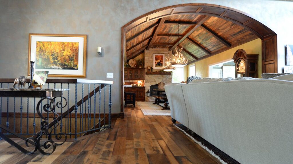
[[169,48],[174,54],[178,46],[183,47],[183,55],[189,63],[193,63],[257,38],[253,31],[243,25],[223,18],[176,14],[128,29],[125,33],[125,50],[128,61],[143,53],[144,49]]

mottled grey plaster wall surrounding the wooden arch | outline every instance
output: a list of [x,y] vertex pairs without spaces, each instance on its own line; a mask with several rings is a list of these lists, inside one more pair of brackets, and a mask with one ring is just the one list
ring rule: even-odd
[[[142,14],[185,3],[218,4],[252,15],[278,34],[279,71],[293,44],[293,3],[265,0],[0,0],[0,78],[27,74],[28,34],[87,34],[87,79],[113,80],[113,113],[120,111],[121,27]],[[97,57],[96,47],[104,49]],[[114,78],[106,78],[106,73]]]

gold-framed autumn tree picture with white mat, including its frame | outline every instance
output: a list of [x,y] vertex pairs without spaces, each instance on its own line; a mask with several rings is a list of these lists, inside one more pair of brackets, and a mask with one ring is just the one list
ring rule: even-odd
[[[29,34],[28,63],[48,76],[86,77],[86,35]],[[28,65],[30,76],[30,66]]]

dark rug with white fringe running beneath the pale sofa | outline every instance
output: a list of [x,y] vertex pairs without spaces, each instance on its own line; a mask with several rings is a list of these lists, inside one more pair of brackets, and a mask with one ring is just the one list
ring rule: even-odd
[[214,154],[216,154],[225,163],[227,163],[227,164],[240,164],[237,160],[235,160],[234,158],[230,157],[228,154],[224,153],[223,151],[218,149],[216,146],[212,145],[207,140],[203,139],[202,137],[197,135],[195,132],[193,132],[190,129],[188,129],[186,126],[184,126],[182,124],[174,124],[174,125],[177,126],[177,128],[179,128],[180,130],[183,130],[185,133],[187,133],[189,135],[189,137],[192,137],[196,141],[200,142],[203,146],[207,147],[209,150],[214,152]]

